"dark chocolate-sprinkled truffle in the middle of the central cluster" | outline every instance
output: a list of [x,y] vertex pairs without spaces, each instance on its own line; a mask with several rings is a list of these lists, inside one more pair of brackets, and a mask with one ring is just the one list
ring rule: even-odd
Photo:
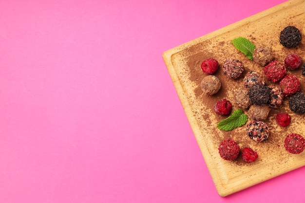
[[249,88],[248,96],[252,104],[267,104],[270,100],[271,88],[263,84],[256,84]]

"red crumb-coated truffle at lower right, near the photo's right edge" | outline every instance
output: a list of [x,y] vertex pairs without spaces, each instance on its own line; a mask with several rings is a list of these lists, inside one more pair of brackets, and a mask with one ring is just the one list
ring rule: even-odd
[[305,139],[302,135],[291,133],[284,141],[284,147],[289,153],[299,154],[304,151]]

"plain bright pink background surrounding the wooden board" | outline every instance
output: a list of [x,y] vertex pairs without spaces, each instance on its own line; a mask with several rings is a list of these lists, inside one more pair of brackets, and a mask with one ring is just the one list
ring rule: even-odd
[[305,167],[218,195],[162,59],[284,1],[1,0],[0,202],[304,203]]

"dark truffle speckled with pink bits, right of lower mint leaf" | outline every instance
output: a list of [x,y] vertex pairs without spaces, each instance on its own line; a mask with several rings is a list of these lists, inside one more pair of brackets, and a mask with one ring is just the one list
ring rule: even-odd
[[247,135],[254,141],[263,142],[269,136],[269,130],[263,121],[251,121],[247,125]]

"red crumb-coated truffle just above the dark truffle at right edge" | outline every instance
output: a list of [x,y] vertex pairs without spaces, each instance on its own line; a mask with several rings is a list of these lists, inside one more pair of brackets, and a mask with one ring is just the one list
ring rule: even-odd
[[300,91],[301,84],[297,76],[289,74],[280,81],[280,87],[283,90],[284,96],[290,96]]

